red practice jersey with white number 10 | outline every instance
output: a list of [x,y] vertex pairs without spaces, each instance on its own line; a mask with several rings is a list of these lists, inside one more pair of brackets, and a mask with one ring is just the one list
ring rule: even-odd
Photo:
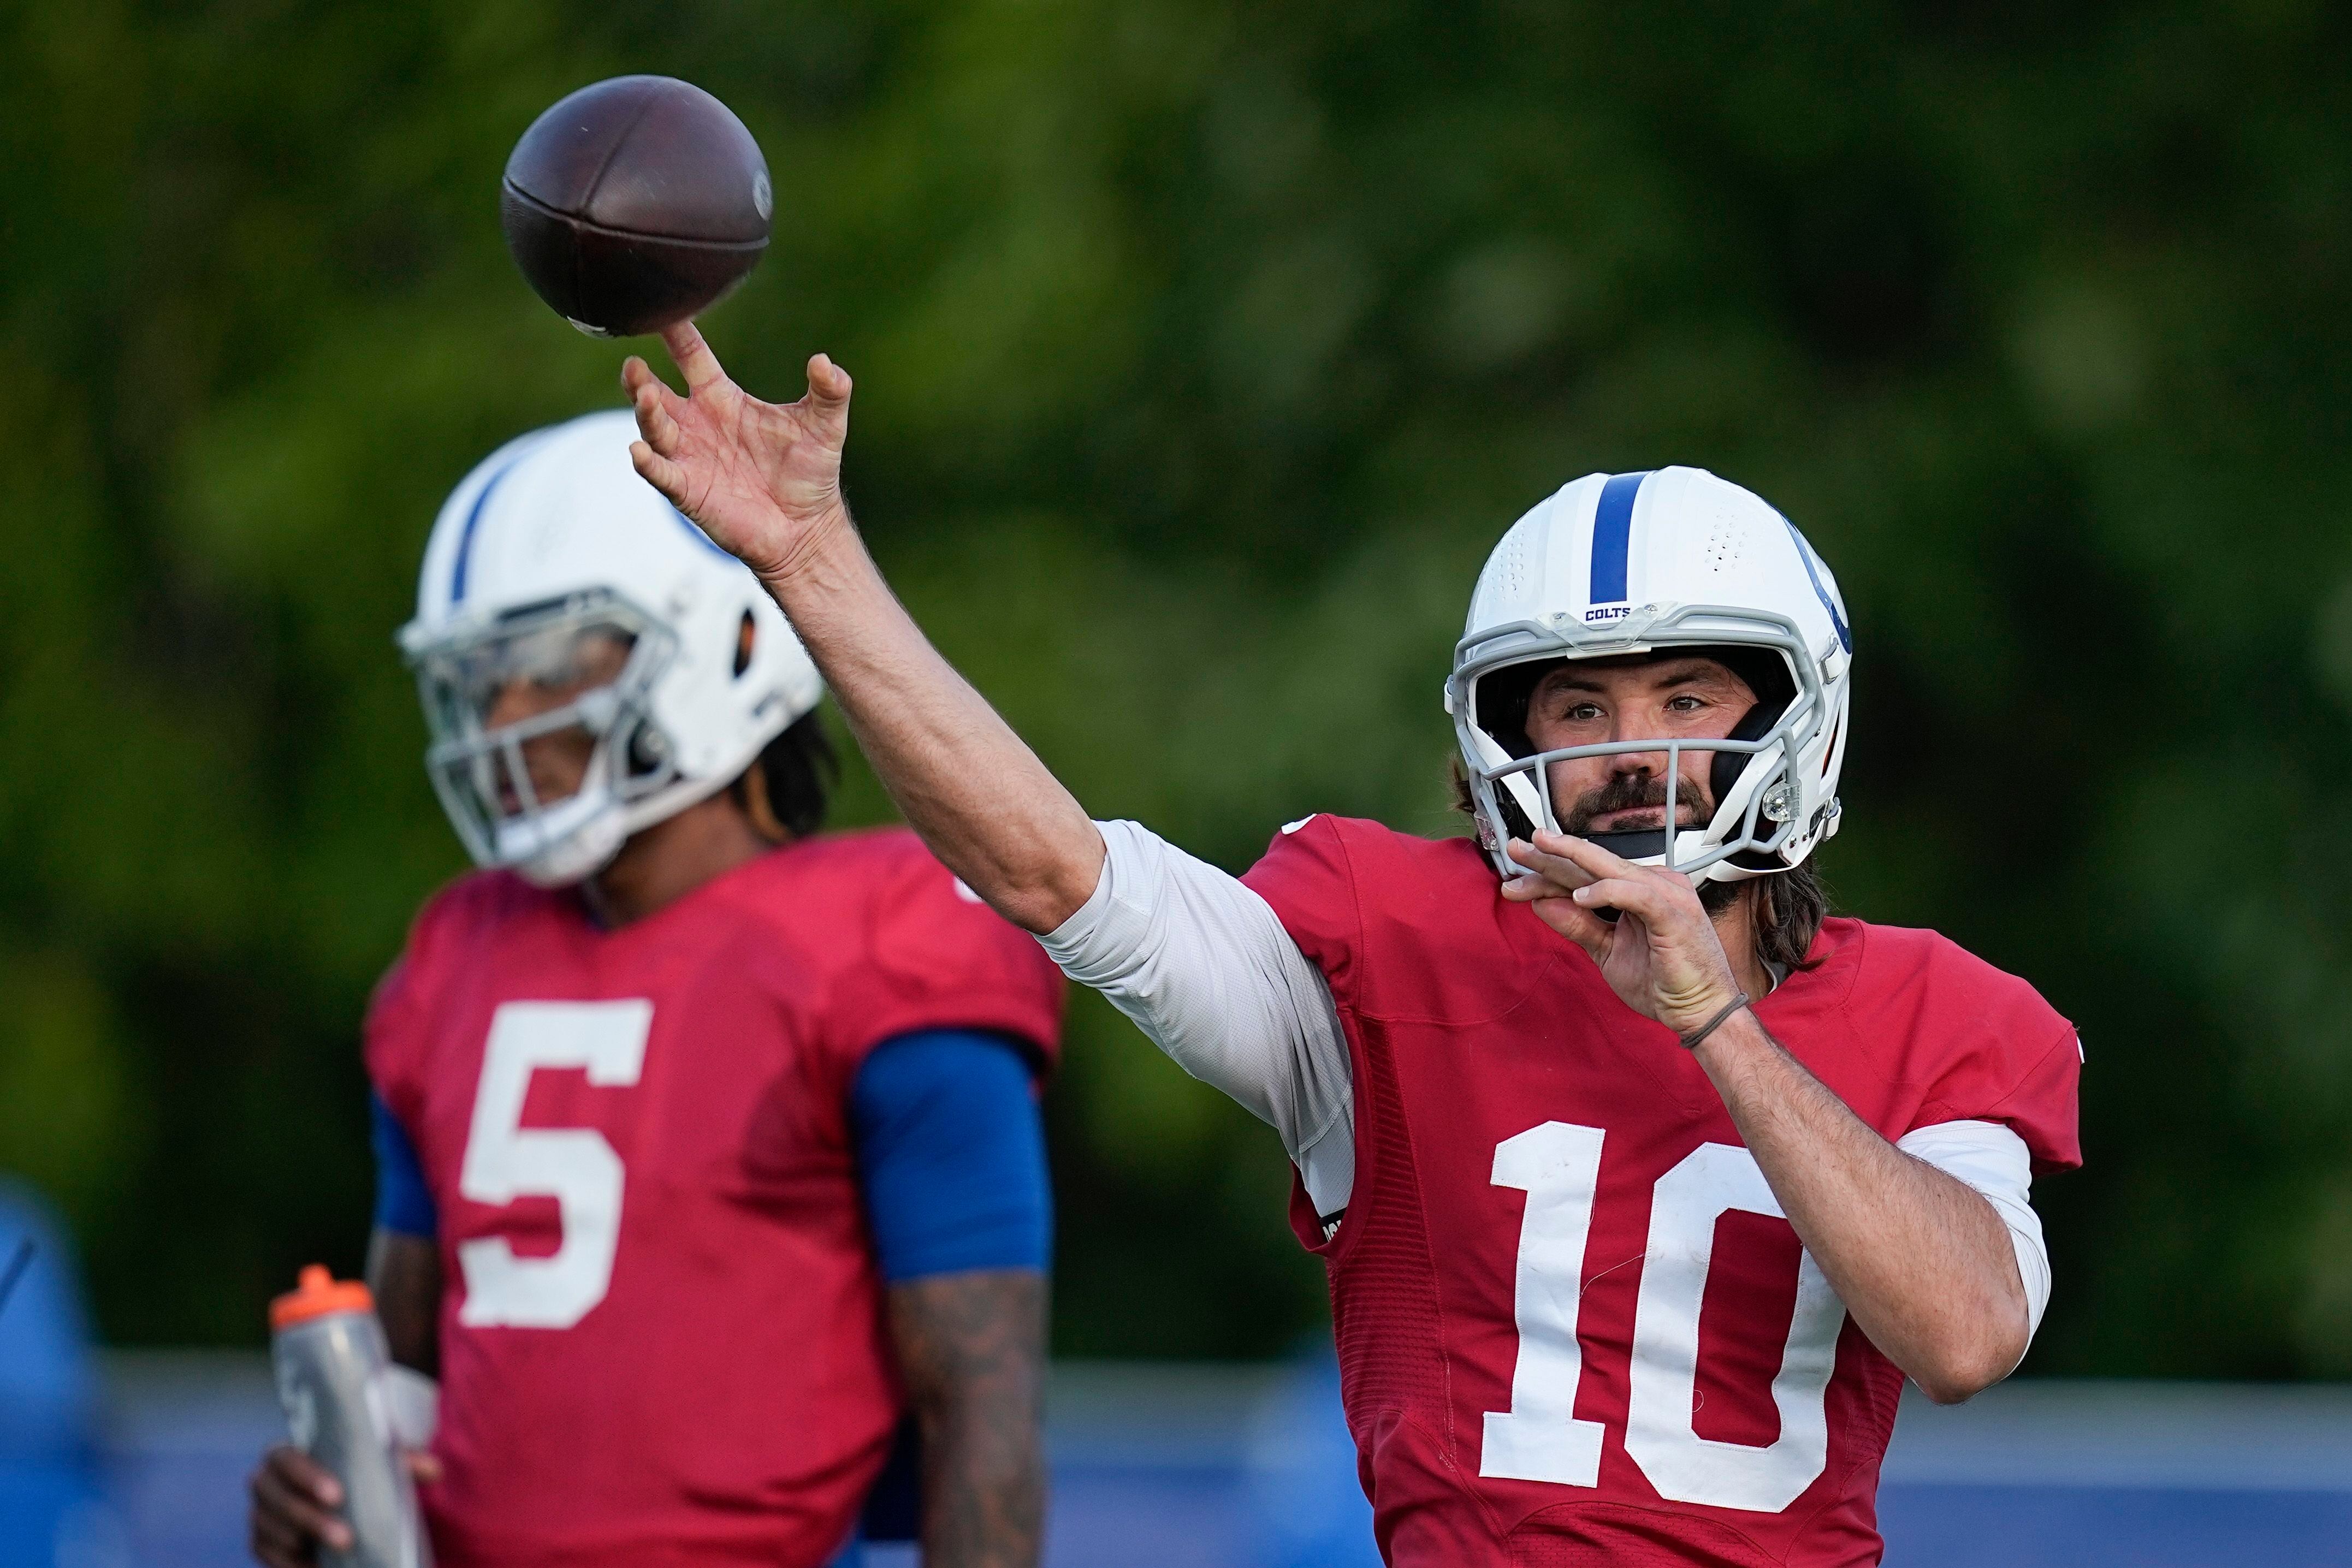
[[[1317,816],[1247,882],[1355,1060],[1345,1218],[1296,1192],[1294,1225],[1388,1561],[1877,1563],[1903,1373],[1675,1034],[1468,839]],[[2082,1164],[2074,1030],[1940,936],[1832,919],[1755,1011],[1886,1138],[1999,1121]]]

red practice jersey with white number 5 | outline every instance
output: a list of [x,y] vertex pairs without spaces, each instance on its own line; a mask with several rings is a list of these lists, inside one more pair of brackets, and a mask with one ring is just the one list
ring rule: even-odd
[[809,1568],[898,1415],[847,1107],[894,1034],[1044,1060],[1061,976],[903,830],[619,931],[503,872],[419,917],[367,1070],[440,1211],[445,1568]]

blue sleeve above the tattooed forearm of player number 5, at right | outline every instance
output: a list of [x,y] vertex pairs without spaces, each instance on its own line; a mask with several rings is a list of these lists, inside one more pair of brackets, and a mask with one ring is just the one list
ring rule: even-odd
[[1047,1267],[1054,1199],[1018,1044],[971,1030],[887,1039],[858,1067],[849,1124],[882,1279]]

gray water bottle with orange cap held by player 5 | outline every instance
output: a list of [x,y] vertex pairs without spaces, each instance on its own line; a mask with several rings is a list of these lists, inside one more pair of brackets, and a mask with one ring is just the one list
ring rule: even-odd
[[393,1359],[367,1286],[306,1267],[299,1288],[270,1302],[270,1363],[294,1446],[343,1483],[353,1547],[320,1547],[322,1568],[433,1568],[393,1434]]

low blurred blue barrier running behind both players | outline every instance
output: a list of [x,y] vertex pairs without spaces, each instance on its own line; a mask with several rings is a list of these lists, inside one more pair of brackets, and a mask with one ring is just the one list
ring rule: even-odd
[[[245,1474],[282,1432],[268,1363],[129,1354],[108,1378],[108,1497],[129,1528],[54,1561],[242,1563]],[[1378,1561],[1327,1356],[1063,1366],[1049,1420],[1049,1568]],[[2352,1566],[2352,1389],[2025,1382],[1905,1403],[1882,1502],[1896,1568]]]

